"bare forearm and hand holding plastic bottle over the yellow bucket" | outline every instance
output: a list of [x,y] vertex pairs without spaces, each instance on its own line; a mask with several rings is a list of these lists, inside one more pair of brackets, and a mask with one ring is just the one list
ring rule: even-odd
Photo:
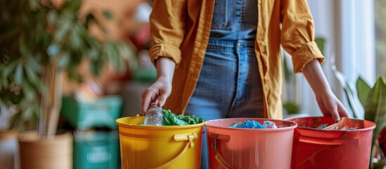
[[157,59],[157,80],[142,93],[142,113],[148,111],[150,105],[162,107],[172,92],[172,79],[176,63],[171,58]]

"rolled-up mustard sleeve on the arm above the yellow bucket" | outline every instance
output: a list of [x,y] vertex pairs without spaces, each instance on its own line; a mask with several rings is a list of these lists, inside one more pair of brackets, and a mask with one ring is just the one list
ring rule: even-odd
[[155,64],[158,57],[169,57],[179,65],[180,46],[184,39],[186,0],[155,0],[150,14],[149,56]]

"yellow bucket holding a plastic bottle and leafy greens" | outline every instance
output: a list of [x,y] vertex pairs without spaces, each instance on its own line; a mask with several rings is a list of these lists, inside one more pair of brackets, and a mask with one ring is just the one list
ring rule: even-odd
[[115,120],[122,169],[200,168],[202,125],[143,126],[143,116]]

